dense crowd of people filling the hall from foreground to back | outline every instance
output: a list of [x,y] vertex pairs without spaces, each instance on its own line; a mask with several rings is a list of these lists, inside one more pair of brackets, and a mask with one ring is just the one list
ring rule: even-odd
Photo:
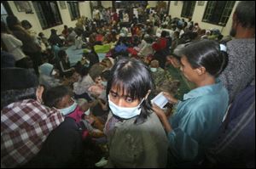
[[[238,3],[228,37],[143,5],[95,8],[49,37],[8,16],[1,167],[255,167],[254,8]],[[70,46],[84,49],[74,65]]]

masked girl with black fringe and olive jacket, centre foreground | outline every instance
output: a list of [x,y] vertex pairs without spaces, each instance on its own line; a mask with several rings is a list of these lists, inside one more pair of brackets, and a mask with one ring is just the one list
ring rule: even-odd
[[113,65],[107,96],[110,113],[108,167],[165,167],[166,133],[152,112],[148,94],[154,84],[148,66],[123,58]]

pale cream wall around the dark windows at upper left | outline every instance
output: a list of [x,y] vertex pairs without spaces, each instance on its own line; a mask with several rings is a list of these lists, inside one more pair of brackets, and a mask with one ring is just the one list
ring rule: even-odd
[[[29,1],[29,3],[32,6],[32,12],[33,14],[26,14],[25,12],[18,12],[15,3],[13,1],[8,1],[9,6],[15,16],[21,21],[21,20],[28,20],[32,24],[32,29],[39,33],[42,31],[45,35],[45,37],[49,37],[50,35],[50,29],[56,29],[58,34],[61,34],[61,31],[63,30],[64,25],[67,25],[68,27],[74,27],[77,20],[71,20],[70,14],[68,11],[68,8],[61,9],[59,1],[57,1],[58,8],[61,14],[61,20],[62,20],[62,25],[57,25],[55,27],[50,27],[49,29],[43,30],[40,22],[38,20],[38,15],[35,11],[35,8],[32,5],[32,2]],[[83,3],[79,2],[79,12],[80,16],[84,15],[85,17],[91,18],[90,14],[90,2],[89,1],[84,1]]]

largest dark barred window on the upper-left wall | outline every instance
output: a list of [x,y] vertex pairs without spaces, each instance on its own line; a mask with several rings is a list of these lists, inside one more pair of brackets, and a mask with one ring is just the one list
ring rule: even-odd
[[62,24],[61,14],[55,1],[33,1],[32,3],[43,30]]

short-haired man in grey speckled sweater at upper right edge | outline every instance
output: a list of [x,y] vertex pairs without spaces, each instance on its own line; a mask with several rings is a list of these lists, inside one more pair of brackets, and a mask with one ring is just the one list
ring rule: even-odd
[[255,76],[255,2],[238,3],[227,42],[229,63],[219,76],[230,94],[230,103]]

